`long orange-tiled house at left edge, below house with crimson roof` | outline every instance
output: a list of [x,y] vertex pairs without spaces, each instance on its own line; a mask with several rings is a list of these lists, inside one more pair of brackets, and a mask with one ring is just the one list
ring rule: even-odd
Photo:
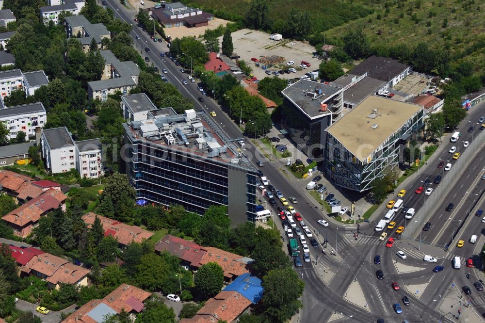
[[59,208],[65,211],[66,199],[67,196],[61,191],[49,189],[3,216],[2,220],[12,226],[16,236],[26,238],[41,216]]

